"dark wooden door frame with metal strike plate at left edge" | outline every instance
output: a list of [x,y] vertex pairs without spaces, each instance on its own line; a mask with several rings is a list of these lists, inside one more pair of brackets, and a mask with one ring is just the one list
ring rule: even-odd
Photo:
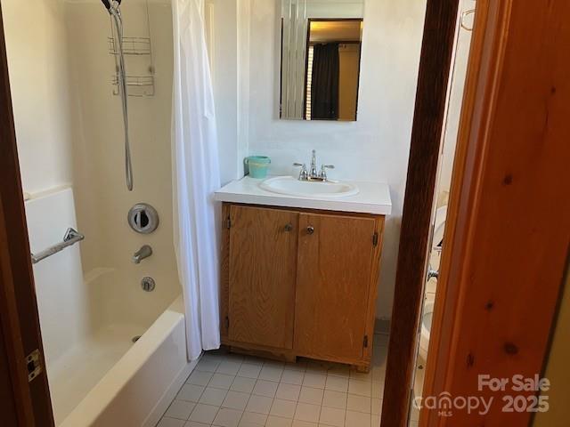
[[[4,25],[0,9],[0,414],[18,426],[53,426],[36,289],[20,182]],[[40,351],[42,372],[28,383],[25,357]],[[6,394],[11,390],[11,394]],[[5,418],[4,418],[5,415]]]

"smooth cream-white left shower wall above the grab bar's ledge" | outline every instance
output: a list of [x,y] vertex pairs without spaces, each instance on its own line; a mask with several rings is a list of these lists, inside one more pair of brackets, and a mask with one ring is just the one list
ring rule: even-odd
[[4,36],[24,191],[72,179],[69,73],[63,4],[3,0]]

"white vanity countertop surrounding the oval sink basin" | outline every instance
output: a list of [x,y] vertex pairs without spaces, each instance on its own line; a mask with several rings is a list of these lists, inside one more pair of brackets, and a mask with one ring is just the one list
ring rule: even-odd
[[390,189],[385,183],[346,181],[356,185],[360,189],[359,193],[348,197],[325,198],[273,193],[259,187],[259,183],[263,181],[249,176],[232,181],[216,191],[216,200],[248,205],[300,207],[378,215],[389,215],[392,212]]

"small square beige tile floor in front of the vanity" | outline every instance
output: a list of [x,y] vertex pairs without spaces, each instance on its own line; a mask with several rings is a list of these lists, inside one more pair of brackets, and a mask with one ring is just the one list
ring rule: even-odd
[[387,336],[375,335],[371,372],[208,351],[158,427],[378,427]]

